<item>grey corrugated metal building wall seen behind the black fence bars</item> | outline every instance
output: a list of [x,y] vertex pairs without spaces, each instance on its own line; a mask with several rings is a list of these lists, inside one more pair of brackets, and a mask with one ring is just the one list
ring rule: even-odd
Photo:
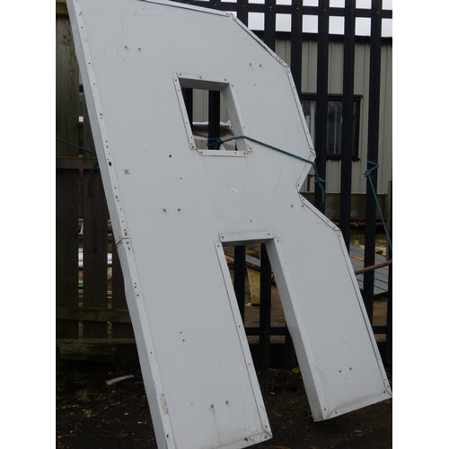
[[[288,39],[277,39],[276,53],[290,65],[291,42]],[[353,162],[352,192],[365,193],[366,180],[363,174],[366,170],[366,145],[368,137],[368,92],[369,92],[369,43],[357,42],[355,52],[355,86],[354,94],[361,95],[359,161]],[[384,43],[381,61],[381,116],[379,136],[379,170],[378,193],[387,193],[388,181],[392,180],[392,44]],[[329,93],[343,93],[343,42],[331,41],[329,45]],[[317,42],[304,40],[303,42],[303,75],[302,92],[315,93],[317,80]],[[207,121],[207,96],[203,92],[195,92],[193,99],[194,121]],[[222,102],[220,118],[226,122]],[[339,193],[340,163],[328,161],[326,171],[326,190]],[[302,188],[306,191],[306,185]],[[313,183],[311,183],[313,191]]]

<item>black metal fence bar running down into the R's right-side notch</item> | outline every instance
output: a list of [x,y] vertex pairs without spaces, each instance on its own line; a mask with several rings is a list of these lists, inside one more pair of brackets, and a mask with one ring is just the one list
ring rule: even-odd
[[[321,179],[326,179],[326,146],[328,125],[329,72],[329,0],[318,3],[318,58],[316,82],[315,165]],[[325,184],[323,185],[325,188]],[[324,214],[325,199],[321,189],[315,189],[314,206]]]

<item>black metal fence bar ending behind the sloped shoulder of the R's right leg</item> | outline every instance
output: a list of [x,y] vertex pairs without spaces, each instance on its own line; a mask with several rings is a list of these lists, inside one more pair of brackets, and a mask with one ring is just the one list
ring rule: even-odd
[[341,129],[341,175],[339,228],[349,250],[351,225],[351,180],[354,136],[354,63],[356,46],[356,0],[345,2],[343,56],[343,110]]

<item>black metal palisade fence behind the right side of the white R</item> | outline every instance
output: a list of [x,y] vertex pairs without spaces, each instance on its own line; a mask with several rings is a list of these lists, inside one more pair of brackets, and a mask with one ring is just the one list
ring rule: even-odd
[[[315,6],[306,6],[302,0],[292,0],[291,4],[277,4],[276,0],[265,0],[263,4],[250,3],[249,0],[237,0],[223,2],[221,0],[208,1],[184,1],[184,4],[193,4],[215,8],[222,11],[236,13],[237,18],[248,25],[250,13],[264,14],[263,31],[256,31],[264,43],[275,50],[277,39],[276,19],[277,14],[287,14],[291,18],[291,40],[290,68],[295,80],[297,92],[301,92],[302,77],[302,50],[303,50],[303,22],[304,15],[315,15],[318,17],[317,40],[317,92],[316,92],[316,121],[315,141],[316,167],[323,178],[326,173],[326,143],[328,130],[328,79],[329,79],[329,44],[330,44],[330,16],[344,17],[344,74],[342,95],[342,124],[341,124],[341,173],[340,173],[340,201],[339,201],[339,228],[348,246],[350,244],[351,231],[351,175],[353,163],[353,108],[354,108],[354,72],[355,72],[355,45],[356,45],[356,20],[357,17],[369,18],[371,31],[369,36],[370,60],[369,60],[369,104],[368,104],[368,142],[367,160],[375,166],[378,163],[379,154],[379,122],[380,122],[380,93],[381,93],[381,45],[382,45],[382,20],[392,18],[391,10],[383,10],[382,0],[373,0],[371,9],[357,9],[356,0],[346,0],[344,7],[330,7],[330,0],[319,0]],[[286,37],[286,33],[282,33]],[[308,37],[310,39],[310,36]],[[189,93],[186,92],[186,98]],[[301,97],[301,94],[300,94]],[[209,98],[209,138],[216,137],[219,128],[219,104],[220,98],[212,96]],[[188,108],[191,103],[187,101]],[[365,201],[365,267],[375,264],[375,236],[377,225],[376,210],[376,186],[377,175],[372,172],[373,189],[366,189]],[[370,186],[371,187],[371,186]],[[325,197],[321,195],[320,189],[315,190],[314,206],[324,213]],[[390,206],[391,207],[391,206]],[[392,211],[388,211],[390,218]],[[392,220],[390,219],[390,228]],[[392,229],[387,232],[391,235]],[[244,272],[244,248],[235,249],[235,292],[240,304],[244,303],[244,287],[242,283]],[[389,259],[392,251],[388,251]],[[269,260],[265,251],[261,252],[261,298],[260,298],[260,357],[261,360],[269,360],[269,334],[273,329],[269,326]],[[265,279],[267,277],[267,279]],[[373,321],[374,309],[374,270],[364,273],[363,297],[366,311]],[[241,307],[242,313],[244,307]],[[253,330],[251,330],[253,331]],[[275,330],[279,333],[279,330]],[[285,330],[287,332],[287,330]],[[281,331],[282,333],[282,331]],[[374,325],[374,333],[386,334],[386,349],[391,357],[392,344],[392,266],[389,269],[388,305],[387,319],[382,325]],[[287,339],[288,340],[288,339]],[[385,355],[385,353],[383,353]]]

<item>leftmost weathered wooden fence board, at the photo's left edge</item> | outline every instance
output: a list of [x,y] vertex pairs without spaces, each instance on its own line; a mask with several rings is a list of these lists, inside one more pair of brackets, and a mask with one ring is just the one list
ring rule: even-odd
[[[79,143],[79,69],[68,15],[56,17],[56,134]],[[57,156],[77,156],[78,150],[57,142]],[[56,302],[78,305],[78,184],[77,170],[56,173]],[[57,320],[56,336],[78,338],[78,321]]]

